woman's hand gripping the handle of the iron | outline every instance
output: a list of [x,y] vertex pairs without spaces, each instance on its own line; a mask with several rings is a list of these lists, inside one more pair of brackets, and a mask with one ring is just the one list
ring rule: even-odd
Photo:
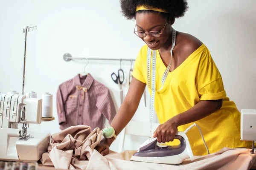
[[157,137],[157,142],[172,142],[177,131],[178,126],[170,119],[157,127],[153,137]]

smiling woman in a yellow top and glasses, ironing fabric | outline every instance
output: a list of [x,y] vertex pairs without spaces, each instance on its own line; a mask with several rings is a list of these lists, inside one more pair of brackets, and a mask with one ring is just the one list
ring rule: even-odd
[[[175,18],[185,14],[186,0],[120,3],[123,15],[135,18],[134,33],[146,45],[137,56],[128,94],[111,123],[116,136],[134,116],[147,85],[160,121],[153,136],[158,142],[177,144],[177,131],[196,123],[210,153],[223,147],[247,147],[247,142],[240,141],[240,113],[226,96],[221,74],[208,48],[196,37],[172,28]],[[194,155],[207,154],[196,127],[186,135]],[[103,139],[96,149],[103,156],[108,154],[114,139]]]

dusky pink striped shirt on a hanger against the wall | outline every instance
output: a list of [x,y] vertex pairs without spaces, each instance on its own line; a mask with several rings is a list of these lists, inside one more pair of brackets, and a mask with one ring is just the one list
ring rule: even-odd
[[102,129],[104,116],[111,123],[116,115],[108,88],[90,74],[77,74],[59,85],[57,111],[61,130],[76,125],[88,125],[92,130],[96,127]]

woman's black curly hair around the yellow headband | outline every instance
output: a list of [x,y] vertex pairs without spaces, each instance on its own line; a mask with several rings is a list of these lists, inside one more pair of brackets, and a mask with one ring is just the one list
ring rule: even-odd
[[[183,17],[188,10],[188,3],[186,0],[120,0],[122,14],[128,20],[135,19],[136,7],[143,5],[146,7],[161,8],[168,13],[163,13],[164,17]],[[156,12],[142,10],[137,12]]]

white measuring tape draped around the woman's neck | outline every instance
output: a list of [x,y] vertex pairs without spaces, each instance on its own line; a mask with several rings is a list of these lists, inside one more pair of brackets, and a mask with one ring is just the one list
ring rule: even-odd
[[[175,46],[176,43],[176,31],[174,28],[172,28],[172,49],[171,51],[171,56],[172,56],[172,51],[173,48]],[[154,115],[154,98],[155,98],[155,92],[156,92],[156,88],[155,88],[155,76],[156,76],[156,55],[157,52],[156,50],[153,50],[153,57],[152,57],[152,88],[151,88],[151,79],[150,79],[150,65],[151,65],[151,49],[148,47],[148,55],[147,55],[147,76],[148,76],[148,88],[150,88],[152,90],[152,100],[151,100],[151,123],[150,123],[150,132],[152,130],[152,122],[153,122],[153,115]],[[169,70],[172,66],[172,57],[171,57],[171,61],[169,63],[169,65],[167,66],[163,77],[162,77],[162,87],[157,90],[160,91],[163,88],[163,84],[166,80],[166,77],[169,73]]]

